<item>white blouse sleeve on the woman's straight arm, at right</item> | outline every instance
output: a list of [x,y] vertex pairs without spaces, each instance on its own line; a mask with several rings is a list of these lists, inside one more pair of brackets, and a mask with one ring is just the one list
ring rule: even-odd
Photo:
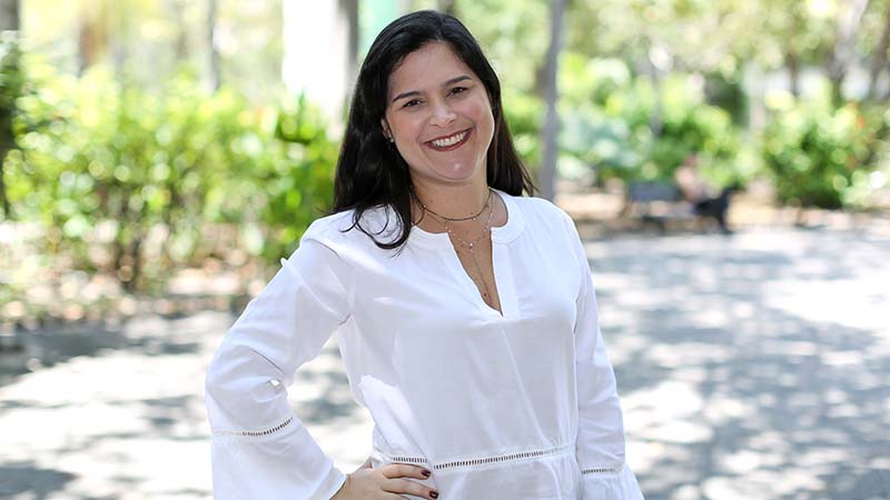
[[574,332],[578,409],[575,452],[584,479],[582,500],[642,500],[636,478],[624,462],[624,422],[615,373],[600,331],[590,263],[571,219],[567,224],[582,277]]

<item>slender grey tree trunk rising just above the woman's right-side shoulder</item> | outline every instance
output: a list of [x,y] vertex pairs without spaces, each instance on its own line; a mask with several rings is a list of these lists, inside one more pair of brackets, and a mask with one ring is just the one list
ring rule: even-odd
[[538,184],[541,186],[541,197],[553,200],[556,194],[556,159],[560,150],[557,136],[560,129],[560,117],[556,111],[557,81],[560,51],[563,43],[563,18],[565,14],[565,0],[551,0],[551,29],[550,48],[547,49],[544,66],[544,101],[547,112],[544,117],[544,129],[542,130],[542,142],[544,143],[541,158],[541,172]]

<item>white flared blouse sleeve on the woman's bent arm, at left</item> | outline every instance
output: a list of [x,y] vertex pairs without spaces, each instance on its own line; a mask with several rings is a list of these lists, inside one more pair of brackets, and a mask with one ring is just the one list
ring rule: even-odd
[[217,500],[328,500],[345,481],[287,400],[297,368],[318,356],[352,303],[348,267],[309,232],[226,333],[208,369]]

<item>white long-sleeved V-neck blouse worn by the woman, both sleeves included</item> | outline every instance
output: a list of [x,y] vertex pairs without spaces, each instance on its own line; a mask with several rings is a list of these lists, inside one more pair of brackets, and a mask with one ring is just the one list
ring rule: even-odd
[[[328,500],[345,476],[288,406],[297,368],[336,331],[372,463],[431,470],[442,500],[642,500],[624,462],[615,378],[590,267],[552,203],[497,191],[492,228],[503,314],[446,233],[413,227],[400,252],[316,220],[226,334],[207,374],[217,499]],[[365,213],[369,231],[398,218]],[[406,496],[407,498],[416,498]]]

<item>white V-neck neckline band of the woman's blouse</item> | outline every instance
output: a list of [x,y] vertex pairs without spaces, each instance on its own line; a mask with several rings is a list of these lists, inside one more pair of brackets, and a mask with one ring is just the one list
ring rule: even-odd
[[473,279],[461,263],[457,249],[452,243],[447,232],[428,232],[421,229],[418,226],[413,226],[408,241],[423,248],[444,252],[445,262],[452,274],[461,283],[464,293],[472,298],[472,301],[483,313],[504,319],[512,317],[516,312],[513,274],[510,271],[510,252],[507,251],[506,243],[510,243],[518,237],[524,228],[524,221],[522,212],[513,200],[513,197],[497,189],[494,191],[501,197],[501,200],[503,200],[507,212],[506,222],[503,226],[493,227],[491,229],[492,273],[494,276],[494,286],[497,290],[497,297],[501,302],[500,311],[483,299],[478,287],[476,287],[476,283],[473,282]]

